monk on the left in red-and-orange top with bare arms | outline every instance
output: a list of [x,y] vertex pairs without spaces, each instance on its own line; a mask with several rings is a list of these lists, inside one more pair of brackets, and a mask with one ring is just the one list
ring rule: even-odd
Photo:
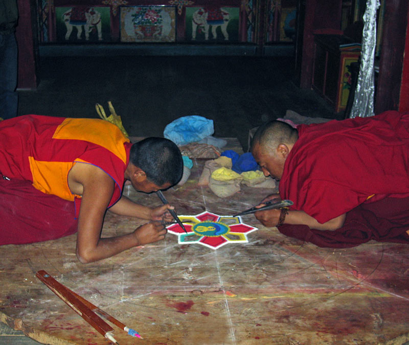
[[[122,195],[125,180],[150,193],[177,183],[183,160],[163,138],[131,144],[103,120],[36,115],[0,122],[0,245],[77,235],[83,262],[162,240],[169,204],[151,209]],[[100,238],[106,210],[146,220],[133,232]]]

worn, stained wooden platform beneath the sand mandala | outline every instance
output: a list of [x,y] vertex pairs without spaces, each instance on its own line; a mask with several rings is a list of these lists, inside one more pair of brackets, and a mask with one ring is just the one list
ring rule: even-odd
[[[164,192],[179,214],[231,215],[272,190],[243,187],[228,200],[191,179]],[[148,205],[156,195],[125,193]],[[0,247],[0,320],[51,344],[107,344],[37,278],[44,269],[60,283],[136,329],[146,344],[403,344],[409,340],[409,247],[370,242],[319,248],[265,228],[249,243],[217,250],[179,245],[175,235],[83,265],[76,236]],[[107,213],[103,236],[143,221]],[[138,343],[124,332],[120,344]],[[141,342],[142,343],[142,342]]]

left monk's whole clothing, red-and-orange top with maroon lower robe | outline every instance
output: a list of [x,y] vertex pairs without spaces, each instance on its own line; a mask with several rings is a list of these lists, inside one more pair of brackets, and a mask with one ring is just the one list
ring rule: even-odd
[[67,182],[75,164],[93,164],[106,172],[115,181],[108,207],[115,204],[130,147],[120,129],[103,120],[27,115],[0,122],[0,172],[10,178],[0,181],[0,244],[77,231],[80,196],[71,193]]

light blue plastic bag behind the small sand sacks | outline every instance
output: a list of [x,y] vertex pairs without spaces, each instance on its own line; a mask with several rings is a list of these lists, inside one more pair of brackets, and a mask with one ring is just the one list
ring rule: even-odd
[[213,120],[202,116],[184,116],[172,121],[165,127],[163,135],[176,145],[198,142],[214,132]]

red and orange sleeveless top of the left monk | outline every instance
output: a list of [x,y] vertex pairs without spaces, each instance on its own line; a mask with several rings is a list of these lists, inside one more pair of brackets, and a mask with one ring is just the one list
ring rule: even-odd
[[0,122],[0,171],[32,181],[43,193],[75,201],[80,196],[71,193],[68,173],[76,163],[93,164],[115,181],[109,208],[121,197],[131,145],[117,126],[104,120],[26,115]]

